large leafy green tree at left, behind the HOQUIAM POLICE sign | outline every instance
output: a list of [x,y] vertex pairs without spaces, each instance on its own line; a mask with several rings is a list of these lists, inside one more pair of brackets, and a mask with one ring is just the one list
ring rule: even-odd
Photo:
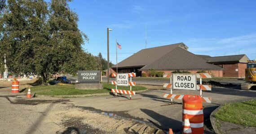
[[6,54],[10,72],[33,73],[46,84],[60,71],[106,69],[102,56],[82,48],[89,39],[78,29],[70,1],[0,0],[0,62]]

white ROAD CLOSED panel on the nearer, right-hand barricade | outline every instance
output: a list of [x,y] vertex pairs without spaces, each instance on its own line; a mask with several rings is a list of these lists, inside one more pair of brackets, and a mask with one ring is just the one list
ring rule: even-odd
[[196,74],[172,74],[173,89],[196,90]]

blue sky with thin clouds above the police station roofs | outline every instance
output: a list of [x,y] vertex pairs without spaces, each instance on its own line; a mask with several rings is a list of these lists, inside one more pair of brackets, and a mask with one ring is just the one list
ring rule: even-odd
[[[183,42],[194,54],[256,59],[256,0],[74,0],[84,49],[116,63],[141,49]],[[147,36],[146,36],[147,35]]]

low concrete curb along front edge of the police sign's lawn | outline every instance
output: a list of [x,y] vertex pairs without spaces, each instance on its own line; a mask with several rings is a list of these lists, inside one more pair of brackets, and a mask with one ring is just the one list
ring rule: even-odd
[[[146,90],[139,90],[135,92],[146,92]],[[91,96],[108,96],[110,95],[110,92],[105,92],[105,93],[94,93],[94,94],[82,94],[82,95],[63,95],[63,96],[52,96],[52,97],[91,97]],[[47,96],[47,95],[36,95],[36,96]]]

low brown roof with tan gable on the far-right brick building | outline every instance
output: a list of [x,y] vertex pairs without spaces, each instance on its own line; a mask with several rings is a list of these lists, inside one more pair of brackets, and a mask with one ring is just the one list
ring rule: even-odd
[[247,63],[248,57],[245,54],[217,56],[205,58],[208,63]]

